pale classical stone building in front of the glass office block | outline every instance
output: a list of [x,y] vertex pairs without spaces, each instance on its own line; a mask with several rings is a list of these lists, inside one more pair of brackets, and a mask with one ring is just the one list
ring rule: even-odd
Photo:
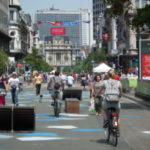
[[49,65],[57,69],[73,66],[75,56],[69,38],[65,36],[45,37],[45,58]]

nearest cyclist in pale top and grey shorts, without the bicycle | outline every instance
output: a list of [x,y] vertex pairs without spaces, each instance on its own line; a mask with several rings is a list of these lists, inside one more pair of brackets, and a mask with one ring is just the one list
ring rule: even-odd
[[[107,123],[108,123],[108,109],[109,108],[114,108],[119,116],[119,112],[120,112],[120,97],[122,96],[122,85],[120,81],[114,80],[114,76],[115,76],[115,72],[113,70],[110,70],[108,72],[108,79],[104,81],[103,84],[103,88],[102,90],[104,90],[104,99],[102,102],[102,108],[103,108],[103,114],[104,114],[104,128],[107,127]],[[102,91],[101,90],[101,91]],[[100,91],[100,92],[101,92]],[[109,100],[106,96],[111,95],[112,97],[109,97]],[[114,97],[116,100],[114,100]],[[111,101],[111,98],[113,99]],[[119,124],[120,120],[118,118],[118,124]]]

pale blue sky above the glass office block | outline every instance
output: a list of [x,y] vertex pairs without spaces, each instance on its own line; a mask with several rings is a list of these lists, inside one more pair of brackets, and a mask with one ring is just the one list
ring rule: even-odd
[[61,10],[76,10],[78,8],[92,8],[92,0],[20,0],[25,13],[34,14],[39,9],[54,8]]

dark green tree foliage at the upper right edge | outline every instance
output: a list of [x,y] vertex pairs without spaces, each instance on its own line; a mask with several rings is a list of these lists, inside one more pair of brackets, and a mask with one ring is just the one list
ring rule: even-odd
[[143,26],[144,24],[150,26],[150,5],[146,5],[142,9],[137,9],[137,14],[132,21],[134,27]]

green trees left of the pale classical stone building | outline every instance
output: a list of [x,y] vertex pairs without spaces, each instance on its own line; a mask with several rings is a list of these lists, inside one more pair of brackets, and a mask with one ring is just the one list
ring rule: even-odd
[[52,70],[52,67],[46,63],[42,56],[38,55],[38,50],[33,49],[32,54],[27,55],[23,60],[26,61],[27,64],[29,64],[33,70],[39,70],[39,71],[50,71]]

